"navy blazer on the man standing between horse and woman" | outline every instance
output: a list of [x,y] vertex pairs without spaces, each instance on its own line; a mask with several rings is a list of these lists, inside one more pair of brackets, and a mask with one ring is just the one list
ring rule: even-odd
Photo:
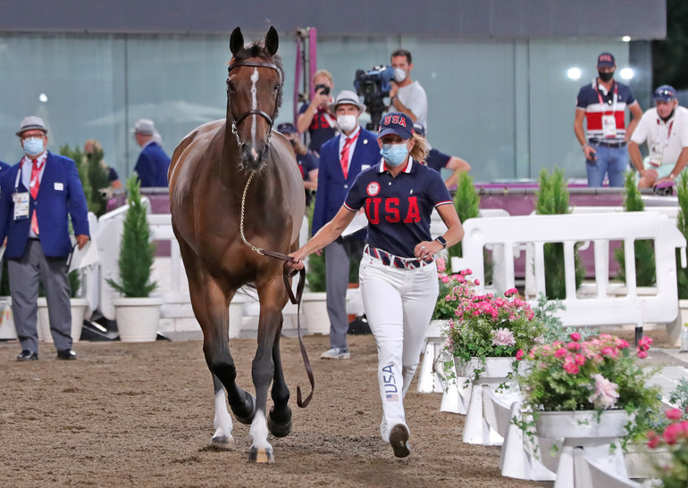
[[377,136],[361,128],[356,141],[347,178],[341,170],[340,136],[332,137],[320,148],[320,169],[318,170],[318,190],[315,194],[313,211],[313,234],[337,215],[347,198],[348,188],[354,183],[362,169],[380,162],[380,146]]

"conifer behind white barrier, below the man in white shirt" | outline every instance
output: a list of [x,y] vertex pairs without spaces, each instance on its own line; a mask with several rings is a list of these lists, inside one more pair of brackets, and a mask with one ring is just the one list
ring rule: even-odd
[[[635,182],[635,173],[628,171],[624,178],[625,211],[643,211],[645,203],[642,202],[641,192]],[[652,286],[657,282],[655,270],[655,248],[651,240],[643,239],[633,243],[635,252],[635,284],[638,286]],[[620,265],[617,277],[623,282],[625,277],[625,249],[623,246],[614,250],[614,259]]]

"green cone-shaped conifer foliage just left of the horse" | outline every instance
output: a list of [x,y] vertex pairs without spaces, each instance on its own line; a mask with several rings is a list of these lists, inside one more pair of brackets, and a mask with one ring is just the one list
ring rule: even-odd
[[146,206],[141,202],[140,182],[136,175],[127,180],[129,211],[124,218],[120,259],[120,282],[108,279],[107,283],[127,298],[147,298],[157,282],[151,282],[155,260],[155,243],[150,242],[150,227]]

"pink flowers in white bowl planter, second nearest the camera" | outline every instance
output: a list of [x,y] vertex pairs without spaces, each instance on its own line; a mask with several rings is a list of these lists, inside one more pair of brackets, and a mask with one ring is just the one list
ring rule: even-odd
[[[524,410],[532,411],[541,437],[625,437],[647,430],[659,408],[659,387],[639,364],[652,339],[633,348],[614,335],[536,345],[516,353],[528,373],[518,378]],[[602,421],[604,420],[604,421]]]

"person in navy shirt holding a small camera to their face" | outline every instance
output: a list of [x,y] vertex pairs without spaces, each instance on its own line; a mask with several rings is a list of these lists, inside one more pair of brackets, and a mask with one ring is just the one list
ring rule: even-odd
[[320,153],[320,146],[335,136],[337,120],[330,112],[329,105],[334,102],[331,97],[334,81],[328,70],[317,70],[313,75],[315,95],[311,103],[304,103],[298,111],[298,132],[304,133],[308,129],[310,143],[308,149],[316,154]]

